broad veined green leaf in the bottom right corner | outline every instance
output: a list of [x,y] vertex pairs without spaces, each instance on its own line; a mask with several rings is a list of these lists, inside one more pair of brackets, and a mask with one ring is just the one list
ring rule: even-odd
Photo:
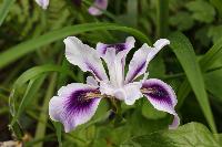
[[213,134],[202,124],[189,123],[175,130],[161,130],[133,137],[121,147],[220,147]]

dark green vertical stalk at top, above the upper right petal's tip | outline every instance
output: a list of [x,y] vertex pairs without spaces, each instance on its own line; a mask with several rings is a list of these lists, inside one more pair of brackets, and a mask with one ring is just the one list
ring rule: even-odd
[[157,0],[157,36],[168,34],[169,0]]

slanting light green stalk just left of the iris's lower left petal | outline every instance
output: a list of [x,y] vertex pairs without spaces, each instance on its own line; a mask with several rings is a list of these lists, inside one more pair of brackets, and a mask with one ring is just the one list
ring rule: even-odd
[[[50,77],[49,87],[48,87],[48,91],[47,91],[47,94],[44,97],[44,102],[42,105],[42,112],[40,114],[40,119],[42,122],[39,122],[37,125],[37,130],[36,130],[36,136],[34,136],[36,140],[44,137],[48,117],[49,117],[49,115],[48,115],[49,101],[54,94],[54,88],[57,86],[56,83],[57,83],[57,74],[53,73],[52,76]],[[43,143],[39,143],[39,144],[34,145],[34,147],[42,147],[42,145],[43,145]]]

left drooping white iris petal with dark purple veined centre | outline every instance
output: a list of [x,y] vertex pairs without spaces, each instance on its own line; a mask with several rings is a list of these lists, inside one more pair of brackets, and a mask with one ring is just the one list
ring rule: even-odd
[[65,133],[84,124],[94,115],[100,103],[97,88],[82,83],[72,83],[59,90],[49,103],[51,119],[61,122]]

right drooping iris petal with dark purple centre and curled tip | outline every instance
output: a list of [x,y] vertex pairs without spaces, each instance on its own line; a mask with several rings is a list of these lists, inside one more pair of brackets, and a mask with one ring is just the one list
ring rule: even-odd
[[170,128],[179,126],[180,119],[174,111],[178,101],[171,86],[160,80],[150,78],[143,82],[141,92],[154,108],[174,115],[173,123],[169,126]]

